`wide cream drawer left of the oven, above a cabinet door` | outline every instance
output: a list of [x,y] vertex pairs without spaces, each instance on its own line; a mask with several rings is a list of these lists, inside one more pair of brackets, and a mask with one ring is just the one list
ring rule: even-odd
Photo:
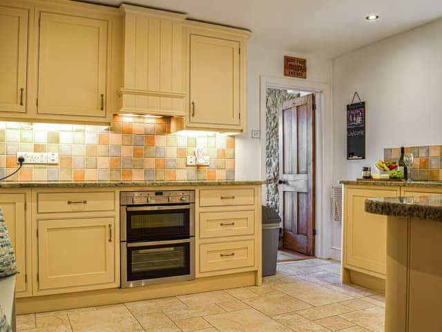
[[93,212],[115,210],[114,192],[57,192],[37,196],[37,212]]

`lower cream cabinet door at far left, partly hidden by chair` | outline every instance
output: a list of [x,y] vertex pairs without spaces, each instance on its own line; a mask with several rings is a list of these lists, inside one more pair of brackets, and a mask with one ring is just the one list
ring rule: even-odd
[[28,291],[26,284],[26,212],[25,212],[25,194],[0,194],[0,206],[3,210],[3,217],[6,221],[6,227],[10,235],[12,248],[14,248],[17,259],[16,293]]

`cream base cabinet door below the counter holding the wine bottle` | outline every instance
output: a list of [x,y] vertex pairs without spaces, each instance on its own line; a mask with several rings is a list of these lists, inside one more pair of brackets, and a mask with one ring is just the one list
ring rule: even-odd
[[345,267],[385,279],[387,217],[365,212],[369,197],[399,196],[398,188],[348,188],[345,197]]

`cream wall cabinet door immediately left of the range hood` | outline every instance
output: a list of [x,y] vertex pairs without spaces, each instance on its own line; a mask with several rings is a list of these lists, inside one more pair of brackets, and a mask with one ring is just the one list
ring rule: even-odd
[[38,114],[105,117],[107,21],[41,12]]

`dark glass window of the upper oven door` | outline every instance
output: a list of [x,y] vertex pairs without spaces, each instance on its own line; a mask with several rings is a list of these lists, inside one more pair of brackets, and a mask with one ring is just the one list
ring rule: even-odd
[[189,237],[189,223],[189,209],[128,211],[128,241]]

